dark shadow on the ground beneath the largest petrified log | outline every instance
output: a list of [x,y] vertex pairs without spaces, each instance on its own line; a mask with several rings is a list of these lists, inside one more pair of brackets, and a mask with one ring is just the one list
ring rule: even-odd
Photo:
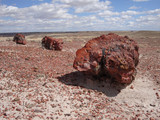
[[60,76],[58,80],[66,85],[97,90],[108,97],[117,96],[127,86],[126,84],[117,83],[111,78],[106,78],[106,76],[96,78],[79,71]]

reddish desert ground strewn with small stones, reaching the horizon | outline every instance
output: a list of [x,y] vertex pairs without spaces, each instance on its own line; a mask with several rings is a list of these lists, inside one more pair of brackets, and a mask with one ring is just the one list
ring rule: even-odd
[[[93,78],[73,68],[77,49],[109,32],[139,45],[135,80]],[[25,33],[27,44],[0,34],[0,120],[159,120],[160,32]],[[41,47],[44,36],[61,38],[62,51]]]

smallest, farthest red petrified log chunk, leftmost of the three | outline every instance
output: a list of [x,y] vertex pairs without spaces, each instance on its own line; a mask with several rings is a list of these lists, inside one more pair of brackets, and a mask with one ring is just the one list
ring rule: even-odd
[[19,33],[14,36],[13,41],[16,42],[17,44],[22,44],[22,45],[25,45],[27,43],[25,40],[25,36]]

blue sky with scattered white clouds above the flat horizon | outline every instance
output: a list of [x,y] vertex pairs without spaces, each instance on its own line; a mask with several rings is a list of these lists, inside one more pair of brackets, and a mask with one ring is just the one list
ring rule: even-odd
[[0,33],[160,31],[160,0],[0,0]]

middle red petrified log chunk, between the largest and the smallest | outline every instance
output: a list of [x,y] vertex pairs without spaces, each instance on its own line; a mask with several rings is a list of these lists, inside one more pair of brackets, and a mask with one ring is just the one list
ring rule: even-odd
[[61,39],[55,39],[48,36],[45,36],[42,39],[42,46],[49,50],[62,50],[63,41]]

